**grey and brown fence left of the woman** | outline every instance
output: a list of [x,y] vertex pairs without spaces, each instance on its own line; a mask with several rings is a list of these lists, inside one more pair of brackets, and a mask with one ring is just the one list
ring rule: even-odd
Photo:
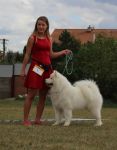
[[[26,70],[28,70],[27,65]],[[20,77],[21,64],[0,65],[0,99],[15,97],[27,92],[24,78]]]

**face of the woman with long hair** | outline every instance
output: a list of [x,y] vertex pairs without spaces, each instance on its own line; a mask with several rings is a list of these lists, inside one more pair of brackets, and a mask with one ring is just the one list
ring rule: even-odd
[[38,20],[38,22],[37,22],[37,32],[40,33],[40,34],[44,34],[46,29],[47,29],[47,24],[42,20]]

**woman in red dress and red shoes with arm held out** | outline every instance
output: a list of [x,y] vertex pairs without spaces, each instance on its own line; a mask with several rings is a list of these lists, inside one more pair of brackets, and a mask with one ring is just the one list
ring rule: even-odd
[[61,50],[53,52],[52,40],[49,34],[49,22],[45,16],[37,19],[33,33],[30,35],[24,60],[22,63],[21,76],[25,76],[26,65],[31,57],[31,65],[26,75],[24,86],[28,89],[28,94],[24,102],[24,120],[23,125],[30,126],[29,113],[32,101],[39,92],[39,102],[34,124],[40,124],[41,116],[44,110],[48,87],[45,79],[52,73],[51,58],[57,58],[70,53],[70,50]]

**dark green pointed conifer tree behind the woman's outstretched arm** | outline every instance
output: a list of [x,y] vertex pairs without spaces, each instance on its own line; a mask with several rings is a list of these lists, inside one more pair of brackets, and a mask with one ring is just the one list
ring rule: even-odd
[[[59,40],[60,40],[59,44],[55,42],[53,43],[53,50],[60,51],[63,49],[70,49],[74,55],[73,63],[75,63],[77,55],[78,55],[78,51],[81,47],[81,42],[77,41],[73,36],[71,36],[71,34],[67,30],[64,30],[61,33],[61,35],[59,36]],[[57,58],[56,60],[52,60],[53,68],[57,69],[61,73],[64,70],[65,63],[66,63],[65,56],[61,58]],[[71,69],[71,65],[69,65],[68,69],[69,70]],[[73,74],[68,76],[65,72],[64,75],[67,76],[67,78],[70,79],[70,81],[73,81],[73,78],[74,78]]]

